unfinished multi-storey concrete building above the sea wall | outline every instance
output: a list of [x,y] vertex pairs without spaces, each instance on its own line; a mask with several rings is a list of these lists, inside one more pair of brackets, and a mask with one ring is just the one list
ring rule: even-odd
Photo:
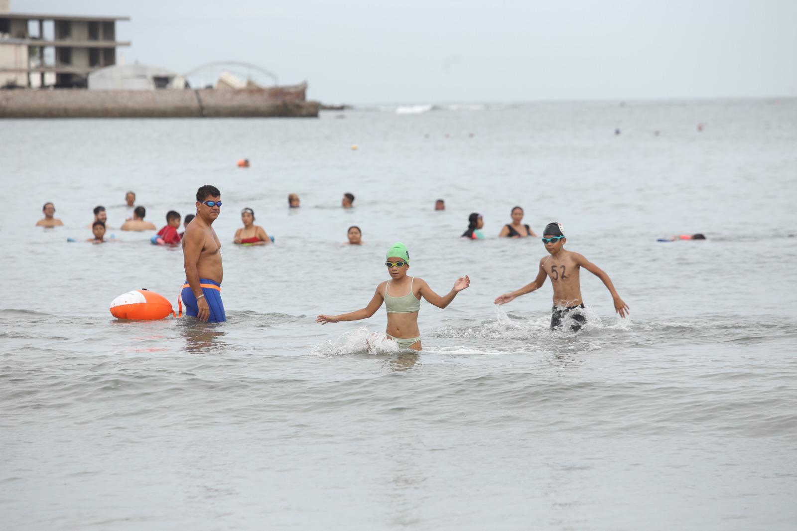
[[116,65],[116,22],[128,17],[12,13],[0,0],[0,87],[85,87]]

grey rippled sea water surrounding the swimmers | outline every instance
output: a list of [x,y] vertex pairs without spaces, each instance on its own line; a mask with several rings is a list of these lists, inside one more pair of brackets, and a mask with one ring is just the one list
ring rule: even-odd
[[[797,527],[797,100],[3,120],[0,176],[2,529]],[[160,227],[203,184],[229,321],[116,321],[184,280],[118,230],[125,192]],[[45,201],[64,227],[34,227]],[[116,242],[84,242],[96,205]],[[548,328],[549,281],[493,305],[546,255],[496,238],[516,205],[630,318],[587,271],[581,332]],[[276,245],[232,244],[243,207]],[[485,241],[459,238],[474,211]],[[423,351],[374,339],[384,309],[316,325],[396,241],[438,293],[472,281],[422,303]]]

